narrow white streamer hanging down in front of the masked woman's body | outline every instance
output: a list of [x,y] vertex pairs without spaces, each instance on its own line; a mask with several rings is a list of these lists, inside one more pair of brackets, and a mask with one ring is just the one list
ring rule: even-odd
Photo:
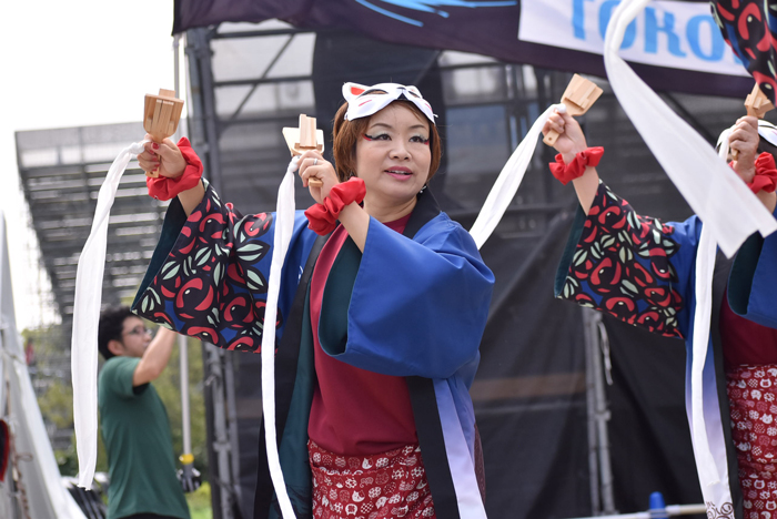
[[291,160],[286,174],[278,190],[275,237],[270,263],[268,301],[264,307],[264,324],[262,328],[262,414],[264,415],[264,439],[270,477],[275,488],[275,496],[281,505],[283,519],[294,519],[296,516],[286,492],[286,485],[283,481],[283,471],[281,470],[281,461],[278,455],[278,434],[275,431],[275,319],[278,316],[281,272],[283,271],[283,262],[294,232],[294,172],[296,171],[299,159],[299,156],[295,156]]

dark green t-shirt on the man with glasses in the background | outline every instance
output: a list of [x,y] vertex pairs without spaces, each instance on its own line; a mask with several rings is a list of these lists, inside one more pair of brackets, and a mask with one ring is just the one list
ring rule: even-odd
[[111,478],[108,519],[134,513],[189,519],[168,413],[151,384],[132,387],[138,363],[112,357],[100,373],[100,420]]

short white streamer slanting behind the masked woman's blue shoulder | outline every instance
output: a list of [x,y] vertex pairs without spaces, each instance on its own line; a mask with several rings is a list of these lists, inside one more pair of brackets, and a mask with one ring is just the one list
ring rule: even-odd
[[534,150],[537,147],[539,132],[542,132],[545,121],[547,121],[547,118],[554,110],[564,112],[566,106],[564,104],[552,104],[548,106],[532,124],[524,140],[521,141],[518,147],[515,149],[504,167],[502,167],[500,176],[497,176],[486,201],[483,203],[483,208],[477,215],[477,220],[475,220],[470,230],[470,234],[475,238],[477,248],[481,248],[488,240],[488,236],[491,236],[491,233],[494,232],[505,211],[507,211],[509,202],[515,197],[518,187],[521,187],[528,163],[532,161]]

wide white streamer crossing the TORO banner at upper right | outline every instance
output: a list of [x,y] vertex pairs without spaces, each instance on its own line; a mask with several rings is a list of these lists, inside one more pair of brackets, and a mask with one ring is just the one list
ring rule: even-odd
[[613,11],[604,45],[607,79],[666,174],[730,257],[750,234],[766,236],[777,230],[777,222],[709,143],[618,55],[626,27],[649,1],[624,0]]

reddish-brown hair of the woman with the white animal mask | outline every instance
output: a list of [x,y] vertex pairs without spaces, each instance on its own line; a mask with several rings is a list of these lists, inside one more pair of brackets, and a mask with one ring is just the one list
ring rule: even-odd
[[[426,115],[424,115],[424,112],[422,112],[421,109],[411,101],[400,99],[393,101],[391,104],[389,104],[389,106],[395,103],[401,103],[403,106],[413,112],[418,119],[428,124],[428,149],[432,152],[432,162],[430,162],[428,177],[426,179],[426,182],[428,182],[437,172],[437,167],[440,167],[440,157],[443,154],[437,126],[432,124]],[[337,110],[337,113],[334,116],[334,128],[332,130],[332,153],[334,155],[334,164],[337,170],[337,179],[340,182],[345,182],[351,176],[351,173],[356,171],[356,141],[359,141],[362,134],[364,134],[364,132],[367,130],[367,125],[370,124],[370,118],[359,118],[354,121],[346,121],[345,112],[347,109],[347,102],[344,102],[340,106],[340,110]]]

